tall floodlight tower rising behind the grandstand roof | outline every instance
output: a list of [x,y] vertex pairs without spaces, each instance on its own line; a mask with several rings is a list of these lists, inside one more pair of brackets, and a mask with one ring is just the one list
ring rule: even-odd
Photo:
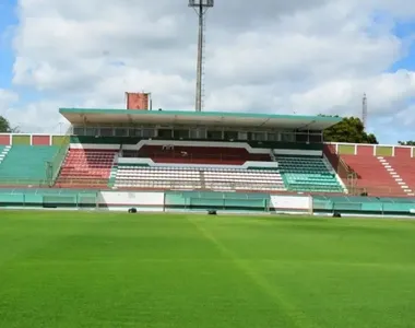
[[202,110],[202,89],[203,89],[203,50],[204,50],[204,19],[208,10],[213,8],[214,0],[189,0],[189,7],[193,8],[199,17],[199,40],[198,40],[198,69],[195,82],[195,112]]

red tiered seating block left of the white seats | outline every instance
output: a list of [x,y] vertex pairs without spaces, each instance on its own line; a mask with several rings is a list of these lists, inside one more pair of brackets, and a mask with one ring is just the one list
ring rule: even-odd
[[116,151],[71,149],[58,178],[59,187],[106,187]]

